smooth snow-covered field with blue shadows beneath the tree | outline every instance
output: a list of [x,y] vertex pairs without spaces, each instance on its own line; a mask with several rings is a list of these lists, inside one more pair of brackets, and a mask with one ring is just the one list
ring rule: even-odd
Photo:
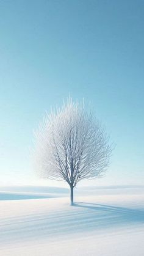
[[71,207],[67,189],[1,188],[0,255],[144,255],[142,187],[75,194]]

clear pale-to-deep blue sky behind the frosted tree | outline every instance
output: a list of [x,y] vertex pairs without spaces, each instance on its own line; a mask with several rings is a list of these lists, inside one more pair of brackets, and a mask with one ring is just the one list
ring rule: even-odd
[[144,185],[143,12],[141,0],[0,0],[0,185],[57,185],[35,175],[30,152],[69,94],[116,144],[106,177],[84,185]]

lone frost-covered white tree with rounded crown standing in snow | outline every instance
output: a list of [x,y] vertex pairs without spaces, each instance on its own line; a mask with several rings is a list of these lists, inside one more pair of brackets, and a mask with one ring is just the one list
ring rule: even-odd
[[62,109],[46,114],[35,132],[35,159],[43,178],[64,180],[73,188],[84,179],[99,178],[109,166],[112,147],[104,126],[91,108],[68,98]]

